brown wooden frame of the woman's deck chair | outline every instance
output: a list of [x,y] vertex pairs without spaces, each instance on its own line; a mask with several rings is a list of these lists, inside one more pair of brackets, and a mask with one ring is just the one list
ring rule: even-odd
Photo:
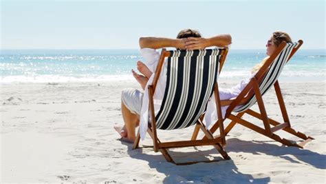
[[[290,57],[287,59],[287,62],[291,59],[293,54],[298,50],[298,48],[301,47],[302,44],[303,44],[303,41],[299,40],[298,45],[296,46],[296,48],[294,48],[292,50]],[[277,100],[279,101],[281,114],[283,116],[283,121],[284,121],[283,123],[279,123],[278,121],[275,121],[268,117],[268,114],[265,110],[265,105],[263,103],[262,94],[261,94],[261,91],[259,90],[259,83],[263,80],[263,77],[265,76],[266,72],[268,71],[268,68],[270,67],[270,65],[272,65],[272,62],[274,61],[274,59],[276,59],[276,57],[281,53],[283,48],[285,48],[285,45],[286,45],[285,42],[283,42],[283,43],[281,43],[281,45],[279,45],[279,48],[277,48],[276,51],[272,54],[272,56],[270,56],[270,58],[265,62],[265,64],[261,67],[261,69],[257,72],[257,74],[255,74],[255,76],[251,79],[251,81],[248,83],[246,88],[243,89],[243,91],[239,94],[239,96],[237,96],[236,99],[221,101],[221,103],[217,105],[218,108],[229,105],[228,109],[226,110],[225,119],[221,119],[218,121],[224,122],[226,119],[230,119],[231,122],[226,127],[224,135],[222,135],[222,136],[218,135],[215,137],[217,137],[217,138],[221,137],[221,139],[223,139],[223,137],[225,135],[227,135],[230,132],[230,130],[232,130],[232,128],[237,123],[239,123],[245,127],[250,128],[251,130],[254,130],[255,132],[258,132],[260,134],[268,136],[271,139],[274,139],[275,141],[278,141],[278,142],[282,143],[283,145],[287,145],[287,146],[296,146],[296,147],[303,148],[303,146],[306,143],[313,140],[312,137],[306,136],[305,134],[303,134],[301,132],[296,132],[296,130],[294,130],[291,127],[290,119],[289,119],[289,116],[287,115],[287,110],[285,108],[285,103],[284,103],[283,96],[281,93],[279,81],[276,81],[274,83],[274,89],[276,92]],[[248,101],[250,100],[250,97],[252,95],[255,95],[257,98],[257,103],[259,106],[260,113],[255,112],[254,110],[248,109],[243,112],[239,112],[236,115],[233,115],[232,110],[234,110],[237,107],[237,105],[243,105],[243,104],[248,103]],[[244,119],[241,119],[241,117],[244,114],[249,114],[250,116],[254,116],[257,119],[260,119],[261,121],[263,121],[264,127],[259,127],[257,125],[254,125],[253,123],[250,123]],[[220,117],[219,117],[219,119],[220,119]],[[220,126],[219,124],[220,124],[219,122],[215,123],[215,125],[213,125],[213,127],[210,128],[210,132],[214,133],[219,128],[219,126]],[[271,125],[273,125],[273,127],[271,127]],[[303,141],[301,143],[294,143],[294,141],[282,139],[279,135],[274,134],[274,132],[279,131],[279,130],[284,130],[285,132],[293,134],[294,136],[297,136],[297,137],[303,139]],[[196,131],[197,130],[195,130],[194,132],[196,132]],[[203,139],[205,140],[205,139],[207,139],[207,137],[204,136]]]

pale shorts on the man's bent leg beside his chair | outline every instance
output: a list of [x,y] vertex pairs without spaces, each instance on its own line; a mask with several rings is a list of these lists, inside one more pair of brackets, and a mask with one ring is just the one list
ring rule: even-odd
[[121,100],[126,108],[130,110],[133,114],[140,114],[142,111],[142,99],[144,97],[144,92],[140,90],[127,88],[122,90]]

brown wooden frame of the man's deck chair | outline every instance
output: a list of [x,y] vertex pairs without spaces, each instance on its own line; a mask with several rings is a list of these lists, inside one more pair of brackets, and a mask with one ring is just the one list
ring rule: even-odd
[[[162,154],[163,154],[164,158],[166,159],[166,161],[169,161],[171,163],[175,163],[176,165],[189,165],[189,164],[193,164],[193,163],[212,162],[212,161],[193,161],[193,162],[186,162],[186,163],[176,163],[175,161],[173,161],[171,155],[168,152],[168,149],[169,148],[175,148],[175,147],[191,147],[191,146],[213,145],[217,149],[217,151],[221,154],[221,156],[223,156],[224,159],[226,159],[226,160],[230,159],[230,157],[228,156],[228,154],[224,150],[224,147],[221,146],[221,140],[224,140],[224,142],[225,142],[225,138],[224,139],[214,138],[213,134],[202,123],[202,119],[204,118],[204,114],[198,119],[198,121],[196,123],[196,127],[198,127],[197,133],[199,132],[199,129],[202,130],[202,132],[204,132],[205,136],[207,137],[206,140],[202,140],[202,139],[195,140],[194,136],[192,136],[191,140],[189,140],[189,141],[171,141],[171,142],[162,143],[160,141],[160,139],[158,139],[157,131],[156,131],[153,94],[155,92],[157,81],[159,79],[160,72],[161,72],[162,67],[163,67],[164,59],[166,57],[170,57],[170,54],[171,53],[169,51],[166,51],[166,49],[162,49],[162,52],[161,52],[161,55],[160,55],[160,60],[159,60],[159,63],[157,65],[157,69],[155,70],[153,83],[152,83],[152,85],[149,85],[149,87],[148,87],[148,90],[149,90],[149,114],[150,114],[150,117],[151,117],[151,123],[149,124],[147,132],[151,136],[151,139],[153,139],[154,151],[155,152],[157,152],[157,151],[162,152]],[[221,54],[220,54],[221,58],[219,59],[219,71],[221,71],[221,68],[224,65],[224,61],[226,59],[227,54],[228,54],[228,48],[224,48],[224,50],[221,51]],[[217,87],[218,87],[217,82],[215,82],[215,91],[217,90]],[[215,94],[216,94],[216,92],[215,92]],[[215,98],[215,99],[219,99],[219,96],[217,98]],[[216,103],[219,103],[219,101],[216,101]],[[219,125],[221,125],[221,127],[219,128],[219,130],[221,131],[221,135],[222,135],[222,137],[225,137],[224,136],[223,123],[220,122]],[[137,134],[137,136],[135,138],[135,142],[133,144],[133,149],[139,148],[139,142],[140,142],[140,132],[138,131],[138,134]]]

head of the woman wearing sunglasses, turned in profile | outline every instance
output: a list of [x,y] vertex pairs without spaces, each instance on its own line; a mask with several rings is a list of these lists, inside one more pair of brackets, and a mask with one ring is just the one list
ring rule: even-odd
[[282,41],[285,41],[287,43],[292,43],[291,37],[286,32],[281,32],[281,31],[273,32],[272,37],[270,37],[270,39],[266,44],[266,48],[267,48],[266,54],[268,54],[268,56],[272,55],[273,52],[276,50],[276,48],[278,48],[279,45],[282,43]]

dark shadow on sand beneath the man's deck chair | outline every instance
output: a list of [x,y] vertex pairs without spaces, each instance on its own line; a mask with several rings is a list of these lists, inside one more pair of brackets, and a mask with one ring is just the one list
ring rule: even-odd
[[[192,183],[269,183],[270,177],[265,174],[261,176],[252,176],[251,174],[243,174],[239,172],[234,161],[224,161],[221,156],[213,156],[215,160],[221,160],[213,163],[196,163],[193,165],[175,165],[169,163],[164,159],[164,156],[160,152],[157,154],[143,154],[145,149],[153,150],[153,148],[140,148],[132,150],[132,145],[129,143],[123,143],[128,145],[128,154],[134,159],[141,159],[147,161],[149,166],[157,172],[166,175],[163,183],[180,183],[180,182],[192,182]],[[218,154],[215,148],[210,150],[197,150],[193,152],[177,152],[178,149],[169,150],[171,156],[178,162],[186,156],[199,155],[195,158],[196,161],[207,161],[206,155]],[[203,156],[204,155],[204,156]],[[218,154],[219,155],[219,154]]]

